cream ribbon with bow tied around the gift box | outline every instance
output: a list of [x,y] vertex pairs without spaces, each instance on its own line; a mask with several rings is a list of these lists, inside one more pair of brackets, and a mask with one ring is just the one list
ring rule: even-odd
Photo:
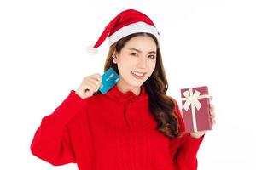
[[189,107],[191,105],[191,111],[192,111],[192,121],[193,121],[193,127],[194,131],[197,132],[197,126],[196,126],[196,119],[195,119],[195,108],[197,111],[200,110],[201,108],[201,103],[198,99],[203,99],[203,98],[209,98],[208,94],[200,95],[201,93],[197,90],[195,90],[193,94],[192,88],[189,88],[189,90],[186,90],[183,92],[183,95],[185,96],[182,98],[183,101],[185,101],[183,105],[183,109],[185,111],[189,110]]

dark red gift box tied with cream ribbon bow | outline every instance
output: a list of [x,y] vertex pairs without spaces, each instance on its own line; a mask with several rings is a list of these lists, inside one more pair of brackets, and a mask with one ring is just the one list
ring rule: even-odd
[[180,91],[185,131],[212,130],[208,87],[182,88]]

